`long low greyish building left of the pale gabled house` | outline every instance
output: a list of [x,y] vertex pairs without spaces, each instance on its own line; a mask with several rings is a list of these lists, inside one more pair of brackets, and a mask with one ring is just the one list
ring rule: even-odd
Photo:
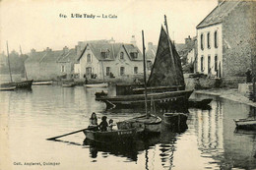
[[56,51],[52,51],[49,47],[39,52],[32,49],[29,58],[25,61],[27,76],[33,80],[53,80],[71,75],[76,58],[76,50],[66,46],[63,50]]

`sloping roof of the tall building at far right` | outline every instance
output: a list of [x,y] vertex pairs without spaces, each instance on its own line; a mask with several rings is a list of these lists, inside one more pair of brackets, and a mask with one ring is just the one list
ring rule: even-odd
[[220,24],[224,18],[240,3],[242,0],[226,0],[219,4],[198,26],[197,28],[205,28],[208,26]]

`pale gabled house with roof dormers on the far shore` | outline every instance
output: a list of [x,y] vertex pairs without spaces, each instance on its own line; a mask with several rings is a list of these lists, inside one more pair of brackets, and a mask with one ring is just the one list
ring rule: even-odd
[[75,64],[83,79],[123,78],[143,73],[143,56],[133,43],[89,42]]

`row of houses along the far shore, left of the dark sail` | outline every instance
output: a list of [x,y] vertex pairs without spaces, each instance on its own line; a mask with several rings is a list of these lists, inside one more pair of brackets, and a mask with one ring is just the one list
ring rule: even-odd
[[113,38],[81,41],[72,49],[32,49],[25,67],[33,80],[124,78],[143,73],[143,55],[134,36],[131,43],[116,43]]

